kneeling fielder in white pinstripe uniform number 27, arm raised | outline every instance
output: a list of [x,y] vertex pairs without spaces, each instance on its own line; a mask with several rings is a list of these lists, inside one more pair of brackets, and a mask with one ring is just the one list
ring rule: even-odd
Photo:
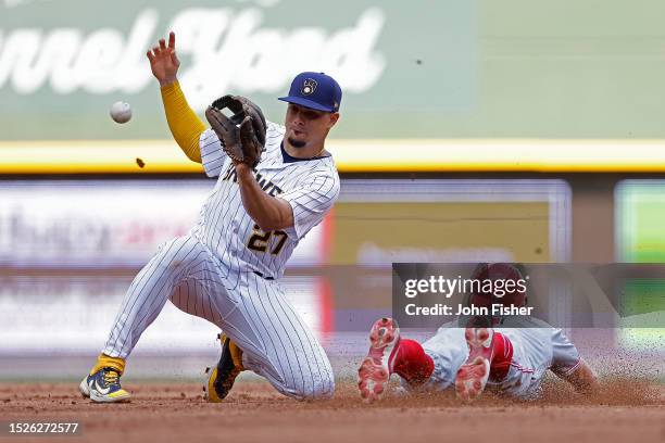
[[95,402],[129,400],[120,383],[125,359],[170,300],[224,331],[222,356],[209,371],[209,401],[222,401],[246,369],[286,395],[329,397],[330,363],[278,281],[298,242],[339,195],[339,176],[324,149],[339,118],[339,85],[323,73],[298,75],[279,99],[289,103],[285,126],[268,122],[265,152],[252,170],[226,155],[187,104],[176,77],[175,35],[148,59],[175,140],[218,178],[197,225],[161,245],[131,282],[81,393]]

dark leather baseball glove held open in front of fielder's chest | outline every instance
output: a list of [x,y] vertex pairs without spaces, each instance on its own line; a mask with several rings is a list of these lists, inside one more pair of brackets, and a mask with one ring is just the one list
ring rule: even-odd
[[[225,109],[230,117],[224,114]],[[205,118],[234,162],[256,167],[265,149],[266,123],[261,107],[244,97],[224,96],[208,106]]]

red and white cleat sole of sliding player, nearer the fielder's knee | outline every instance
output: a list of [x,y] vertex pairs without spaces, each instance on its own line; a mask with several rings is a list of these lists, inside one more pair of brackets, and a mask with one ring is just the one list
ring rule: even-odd
[[400,344],[400,328],[392,318],[377,320],[369,331],[369,352],[357,369],[357,389],[363,398],[379,400],[392,374],[392,360]]

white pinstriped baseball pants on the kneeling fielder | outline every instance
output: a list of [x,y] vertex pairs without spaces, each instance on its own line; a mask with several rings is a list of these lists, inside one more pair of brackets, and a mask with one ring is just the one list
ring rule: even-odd
[[163,244],[131,282],[102,352],[126,358],[171,300],[218,326],[243,351],[243,366],[279,392],[296,398],[331,396],[328,357],[280,286],[251,270],[241,271],[238,281],[226,281],[226,275],[195,237]]

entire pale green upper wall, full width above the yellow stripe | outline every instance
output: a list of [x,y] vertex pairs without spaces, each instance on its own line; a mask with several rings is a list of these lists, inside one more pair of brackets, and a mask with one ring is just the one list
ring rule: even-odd
[[[664,13],[660,0],[2,0],[0,139],[168,138],[145,54],[173,28],[198,110],[236,92],[280,122],[275,98],[311,69],[346,91],[336,138],[660,140]],[[116,100],[134,105],[122,127]]]

